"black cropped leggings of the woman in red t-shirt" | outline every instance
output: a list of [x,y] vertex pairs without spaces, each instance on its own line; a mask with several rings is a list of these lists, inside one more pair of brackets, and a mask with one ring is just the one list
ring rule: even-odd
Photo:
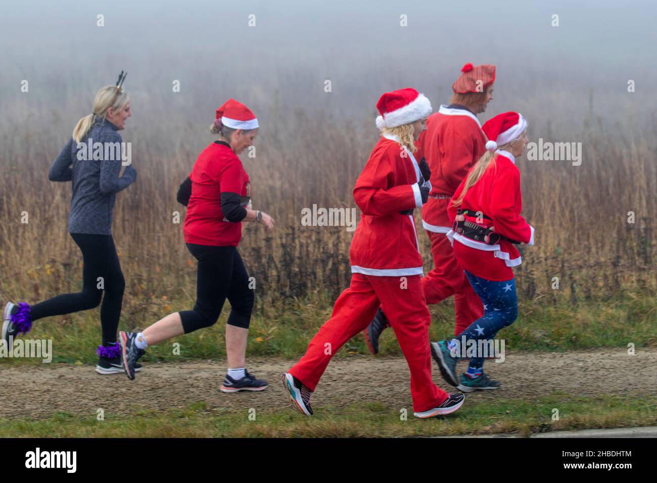
[[194,310],[179,312],[185,334],[214,325],[226,298],[231,302],[228,325],[248,329],[254,290],[237,247],[187,243],[187,248],[198,260],[198,271]]

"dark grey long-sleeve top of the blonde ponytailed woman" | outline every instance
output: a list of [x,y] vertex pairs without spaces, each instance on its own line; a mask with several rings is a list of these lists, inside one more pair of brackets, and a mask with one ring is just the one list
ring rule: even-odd
[[[84,159],[79,160],[77,143],[71,138],[50,167],[50,181],[72,181],[73,184],[68,216],[69,233],[112,234],[116,193],[137,179],[137,171],[132,166],[127,166],[124,175],[119,177],[122,168],[122,138],[117,130],[111,122],[99,120],[89,129],[86,138],[81,140],[87,148],[89,139],[92,147],[94,143],[102,143],[102,157],[105,157],[105,152],[112,152],[114,159],[94,160],[92,149]],[[108,150],[105,149],[106,143],[112,143]],[[113,143],[118,143],[119,149]],[[119,155],[116,156],[116,153]]]

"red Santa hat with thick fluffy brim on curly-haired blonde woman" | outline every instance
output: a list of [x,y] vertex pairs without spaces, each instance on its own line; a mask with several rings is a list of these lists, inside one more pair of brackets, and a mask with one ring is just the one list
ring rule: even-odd
[[386,92],[378,99],[376,108],[381,114],[376,118],[379,130],[415,122],[426,118],[432,111],[429,99],[411,87]]

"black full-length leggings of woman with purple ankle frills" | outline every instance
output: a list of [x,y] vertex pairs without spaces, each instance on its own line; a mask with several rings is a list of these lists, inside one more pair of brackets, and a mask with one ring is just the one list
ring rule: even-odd
[[[58,295],[33,305],[30,308],[30,319],[35,321],[98,307],[103,291],[103,288],[98,287],[104,287],[105,296],[101,306],[102,345],[114,344],[125,289],[114,239],[112,235],[88,233],[71,233],[71,237],[82,251],[82,291]],[[102,285],[99,277],[102,277]]]

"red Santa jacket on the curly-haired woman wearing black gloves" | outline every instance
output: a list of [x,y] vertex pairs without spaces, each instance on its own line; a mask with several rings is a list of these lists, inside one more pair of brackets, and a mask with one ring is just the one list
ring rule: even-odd
[[363,216],[349,251],[352,273],[422,275],[415,221],[411,215],[399,214],[422,206],[419,178],[415,157],[396,137],[379,139],[353,188]]

